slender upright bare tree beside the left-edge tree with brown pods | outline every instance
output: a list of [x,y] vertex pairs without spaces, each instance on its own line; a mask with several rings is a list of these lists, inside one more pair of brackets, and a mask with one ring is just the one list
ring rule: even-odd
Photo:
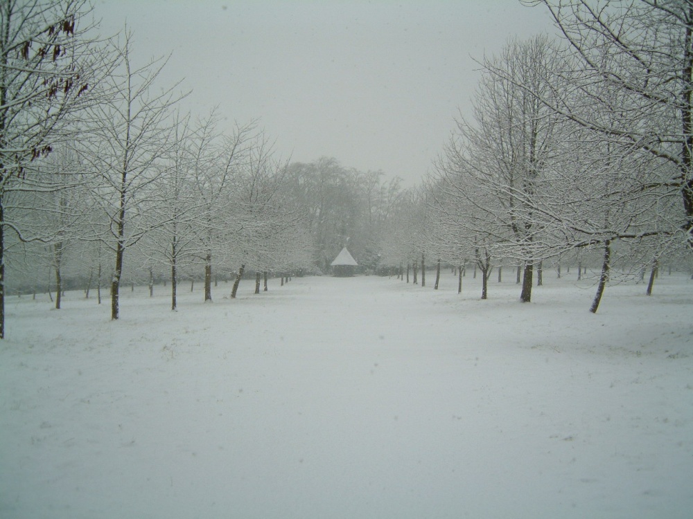
[[170,138],[177,85],[155,91],[155,82],[166,62],[136,66],[130,59],[132,35],[122,46],[114,44],[119,67],[105,82],[109,101],[91,109],[89,138],[82,156],[96,176],[94,192],[100,196],[109,219],[107,244],[115,254],[111,277],[111,318],[119,318],[119,290],[125,250],[137,244],[152,228],[148,219],[152,183],[168,165],[164,159],[175,144]]

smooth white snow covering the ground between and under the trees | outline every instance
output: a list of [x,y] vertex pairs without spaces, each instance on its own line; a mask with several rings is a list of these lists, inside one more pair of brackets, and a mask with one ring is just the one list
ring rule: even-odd
[[689,518],[693,282],[10,298],[0,517]]

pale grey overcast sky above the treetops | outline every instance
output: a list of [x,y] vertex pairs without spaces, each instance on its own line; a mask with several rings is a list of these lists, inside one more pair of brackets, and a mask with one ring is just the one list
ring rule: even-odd
[[468,113],[473,58],[553,32],[519,0],[95,0],[102,33],[134,33],[137,62],[173,53],[185,107],[259,119],[283,158],[333,156],[414,185]]

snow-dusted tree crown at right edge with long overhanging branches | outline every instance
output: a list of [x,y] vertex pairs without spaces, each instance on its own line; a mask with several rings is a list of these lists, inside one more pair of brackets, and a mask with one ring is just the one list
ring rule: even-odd
[[[527,0],[550,11],[580,66],[565,69],[572,90],[547,107],[596,134],[637,147],[676,173],[683,230],[693,246],[693,3],[688,0]],[[594,88],[602,85],[602,88]],[[602,96],[604,88],[620,95]],[[528,89],[531,90],[531,89]],[[574,95],[579,93],[579,95]],[[589,110],[583,109],[588,98]],[[614,101],[618,104],[613,104]],[[626,110],[620,109],[622,106]],[[614,117],[604,120],[601,114]],[[606,124],[605,124],[606,123]]]

